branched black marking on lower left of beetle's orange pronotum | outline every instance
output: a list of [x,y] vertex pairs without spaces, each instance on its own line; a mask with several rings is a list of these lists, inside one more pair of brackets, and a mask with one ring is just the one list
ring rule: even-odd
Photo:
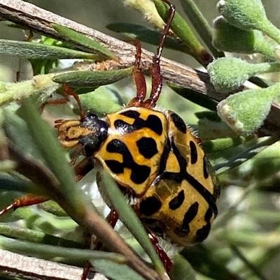
[[142,184],[148,179],[151,173],[151,168],[146,165],[139,165],[136,163],[124,142],[113,139],[108,143],[106,151],[109,153],[118,153],[123,155],[123,163],[114,160],[106,160],[105,163],[111,169],[113,173],[121,174],[124,172],[124,168],[130,168],[130,179],[135,184]]

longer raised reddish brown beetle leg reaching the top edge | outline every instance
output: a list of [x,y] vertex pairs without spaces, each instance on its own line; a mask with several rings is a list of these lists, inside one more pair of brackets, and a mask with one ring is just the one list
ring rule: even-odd
[[162,0],[163,2],[169,5],[169,12],[168,12],[168,19],[167,24],[165,25],[165,29],[162,32],[162,37],[160,38],[160,45],[158,46],[157,53],[155,57],[153,57],[153,66],[151,69],[151,76],[152,76],[152,90],[150,97],[145,101],[144,106],[146,108],[153,108],[155,107],[155,103],[158,101],[160,97],[160,93],[162,91],[162,75],[160,74],[160,57],[162,56],[162,49],[165,43],[165,38],[167,33],[170,29],[171,22],[175,15],[175,6],[172,5],[167,0]]

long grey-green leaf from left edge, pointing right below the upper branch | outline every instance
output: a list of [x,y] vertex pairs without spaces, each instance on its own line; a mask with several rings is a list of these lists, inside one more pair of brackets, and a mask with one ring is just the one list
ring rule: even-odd
[[34,42],[0,40],[0,53],[27,59],[96,59],[96,54]]

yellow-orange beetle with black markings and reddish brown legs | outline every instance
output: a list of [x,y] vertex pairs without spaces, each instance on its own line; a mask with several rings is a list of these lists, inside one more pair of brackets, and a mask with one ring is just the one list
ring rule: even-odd
[[[137,96],[122,110],[100,119],[90,112],[84,113],[76,93],[64,85],[66,94],[79,103],[80,119],[57,120],[55,127],[62,145],[73,148],[72,163],[80,155],[87,159],[76,167],[78,179],[92,168],[88,167],[89,162],[99,161],[124,195],[134,200],[132,207],[150,233],[188,246],[209,234],[218,214],[220,188],[200,139],[179,115],[156,105],[162,92],[160,57],[175,13],[172,3],[162,1],[170,7],[169,17],[153,57],[148,99],[140,67],[141,44],[135,42],[133,78]],[[44,200],[47,198],[38,198],[36,202]],[[28,201],[13,202],[0,215],[11,208],[34,204]],[[170,263],[165,262],[169,270]]]

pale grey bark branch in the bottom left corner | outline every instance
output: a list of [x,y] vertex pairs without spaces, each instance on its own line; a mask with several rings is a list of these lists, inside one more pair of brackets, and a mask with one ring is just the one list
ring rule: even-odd
[[[83,269],[63,265],[50,260],[22,256],[18,253],[0,249],[0,278],[20,277],[26,280],[78,280]],[[104,275],[95,273],[91,280],[108,280]]]

